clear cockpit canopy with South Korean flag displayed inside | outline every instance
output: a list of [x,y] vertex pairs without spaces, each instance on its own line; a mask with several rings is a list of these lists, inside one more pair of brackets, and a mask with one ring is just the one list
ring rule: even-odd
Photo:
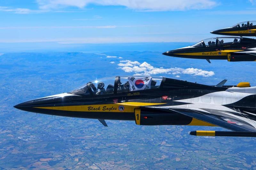
[[162,77],[155,76],[116,76],[90,81],[69,93],[76,95],[105,95],[120,92],[156,89]]

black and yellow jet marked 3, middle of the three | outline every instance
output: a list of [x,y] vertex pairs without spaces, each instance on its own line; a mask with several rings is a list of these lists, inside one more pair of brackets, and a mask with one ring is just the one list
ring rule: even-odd
[[210,60],[256,61],[256,40],[244,37],[216,37],[195,45],[174,49],[164,55]]

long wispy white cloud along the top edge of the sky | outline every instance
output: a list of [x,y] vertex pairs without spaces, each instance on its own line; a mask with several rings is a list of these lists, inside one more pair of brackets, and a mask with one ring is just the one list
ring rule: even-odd
[[217,5],[214,0],[37,0],[40,9],[58,9],[67,6],[84,8],[88,4],[120,5],[138,11],[185,11],[210,9]]

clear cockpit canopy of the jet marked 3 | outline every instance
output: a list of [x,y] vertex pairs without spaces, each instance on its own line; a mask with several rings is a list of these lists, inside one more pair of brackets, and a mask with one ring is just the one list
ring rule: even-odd
[[241,37],[214,37],[197,42],[192,47],[216,47],[220,45],[235,44],[241,41]]

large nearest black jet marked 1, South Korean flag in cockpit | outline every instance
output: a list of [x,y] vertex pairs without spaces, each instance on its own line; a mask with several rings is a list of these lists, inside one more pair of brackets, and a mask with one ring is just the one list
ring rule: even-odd
[[219,126],[198,136],[256,137],[256,87],[203,85],[172,78],[117,76],[90,81],[71,92],[20,103],[47,115],[135,121],[137,125]]

